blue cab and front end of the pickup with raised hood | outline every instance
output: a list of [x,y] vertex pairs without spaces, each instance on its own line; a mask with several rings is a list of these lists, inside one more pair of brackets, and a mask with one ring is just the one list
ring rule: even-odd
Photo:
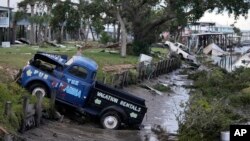
[[21,85],[35,95],[50,97],[52,89],[56,98],[72,106],[82,106],[95,81],[98,65],[82,56],[71,59],[63,56],[37,53],[24,67]]

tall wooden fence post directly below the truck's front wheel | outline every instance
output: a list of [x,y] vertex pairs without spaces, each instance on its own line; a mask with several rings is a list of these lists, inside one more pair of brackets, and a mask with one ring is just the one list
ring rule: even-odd
[[37,93],[37,102],[36,102],[36,127],[40,126],[41,117],[42,117],[42,101],[43,101],[43,94]]

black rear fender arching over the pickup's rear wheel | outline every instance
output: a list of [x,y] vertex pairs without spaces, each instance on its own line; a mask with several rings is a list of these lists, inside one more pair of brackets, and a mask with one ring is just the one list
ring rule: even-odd
[[127,116],[127,114],[125,113],[125,111],[124,111],[122,108],[120,108],[120,107],[118,107],[118,106],[109,106],[109,107],[104,108],[104,109],[100,112],[99,116],[102,116],[103,114],[105,114],[105,113],[108,112],[108,111],[115,111],[115,112],[118,112],[118,114],[120,114],[120,115],[122,116],[122,117],[120,117],[120,118],[122,119],[123,122],[127,122],[127,121],[128,121],[128,116]]

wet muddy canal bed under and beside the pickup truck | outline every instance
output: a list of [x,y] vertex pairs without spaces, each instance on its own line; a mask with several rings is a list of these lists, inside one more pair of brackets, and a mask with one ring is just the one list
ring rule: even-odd
[[32,129],[21,135],[27,141],[157,141],[165,140],[159,138],[152,128],[160,125],[168,133],[176,134],[178,123],[176,115],[182,108],[180,104],[188,101],[190,90],[187,85],[192,85],[192,81],[187,79],[186,75],[175,71],[168,75],[162,75],[154,80],[145,81],[143,84],[154,86],[161,82],[171,88],[170,92],[163,95],[157,95],[147,89],[133,85],[124,88],[124,91],[130,92],[146,100],[148,112],[143,120],[141,130],[104,130],[97,123],[79,124],[73,120],[64,119],[62,123],[45,121],[40,128]]

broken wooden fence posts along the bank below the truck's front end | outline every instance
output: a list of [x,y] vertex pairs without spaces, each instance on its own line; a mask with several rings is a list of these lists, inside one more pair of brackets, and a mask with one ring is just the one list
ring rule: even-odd
[[[30,103],[30,96],[23,96],[22,97],[22,120],[19,132],[24,133],[25,131],[34,128],[39,127],[41,120],[42,120],[42,112],[43,112],[43,95],[41,93],[36,94],[36,103],[31,104]],[[56,99],[56,91],[52,90],[51,92],[51,98],[50,98],[50,115],[51,118],[55,119],[55,116],[57,115],[57,111],[55,110],[55,99]],[[12,114],[14,114],[14,111],[12,111],[12,102],[6,101],[4,104],[4,116],[7,117],[7,120],[11,120]],[[63,116],[62,116],[63,118]],[[61,120],[61,119],[60,119]],[[3,141],[13,141],[14,136],[7,132],[4,128],[0,126],[0,133],[3,134]]]

